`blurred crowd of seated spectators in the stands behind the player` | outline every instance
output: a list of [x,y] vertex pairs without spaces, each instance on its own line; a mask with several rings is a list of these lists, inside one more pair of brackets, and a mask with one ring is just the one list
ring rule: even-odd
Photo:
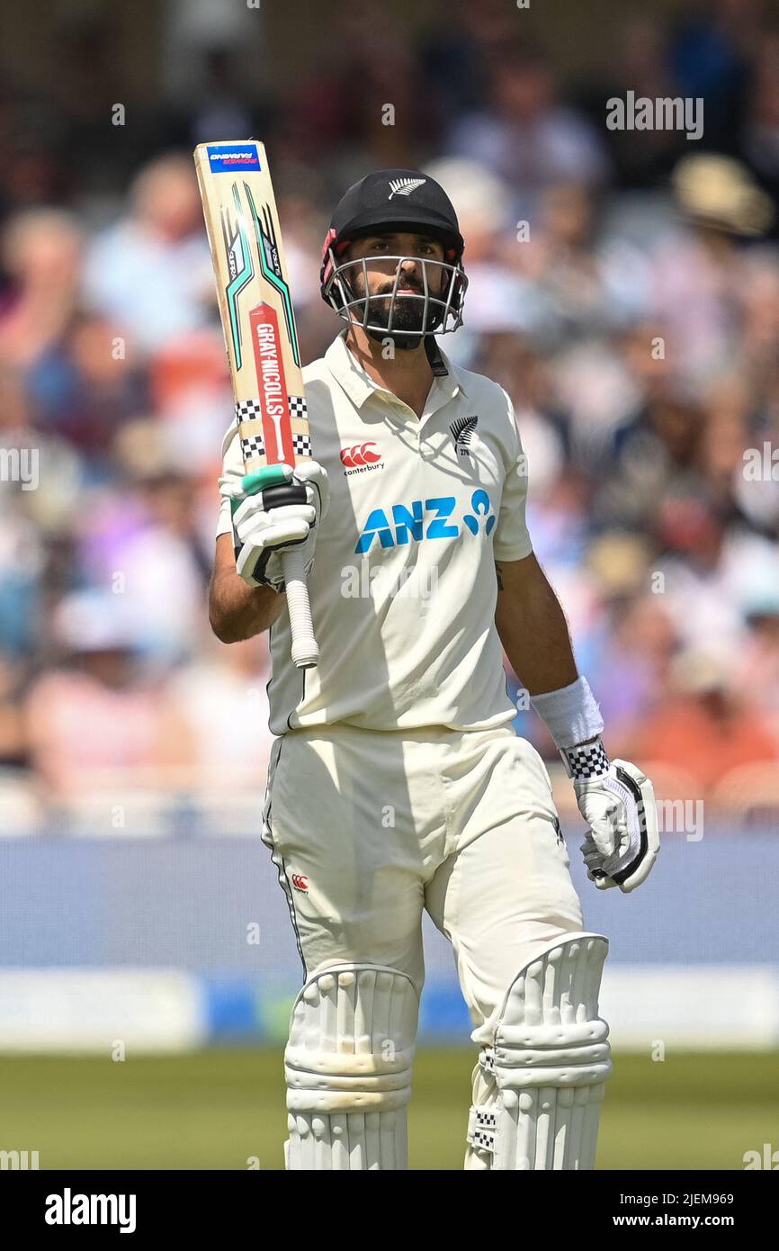
[[[388,28],[390,8],[349,9],[281,99],[203,49],[189,106],[160,105],[143,134],[106,139],[89,99],[70,114],[60,99],[26,130],[26,101],[0,103],[14,156],[0,198],[0,769],[53,802],[128,771],[261,784],[266,642],[225,647],[206,618],[231,400],[189,153],[255,133],[273,154],[305,360],[340,329],[318,288],[334,200],[381,166],[444,184],[470,285],[465,325],[441,345],[513,399],[530,533],[606,746],[665,766],[669,794],[716,797],[734,771],[768,786],[779,26],[735,0],[666,25],[623,18],[613,81],[595,89],[518,38],[510,5],[441,6],[439,26],[415,31]],[[69,55],[96,108],[90,38]],[[704,99],[703,139],[609,131],[605,101],[628,90]],[[518,731],[551,759],[508,678]]]

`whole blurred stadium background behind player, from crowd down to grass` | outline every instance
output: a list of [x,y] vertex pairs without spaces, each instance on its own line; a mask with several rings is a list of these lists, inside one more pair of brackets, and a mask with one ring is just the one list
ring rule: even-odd
[[[749,0],[6,8],[0,1150],[281,1162],[300,970],[259,842],[265,642],[223,647],[205,612],[230,398],[190,159],[249,134],[305,359],[338,329],[334,199],[393,164],[450,191],[470,289],[444,347],[514,400],[606,744],[656,782],[653,877],[594,892],[518,711],[611,940],[600,1167],[779,1147],[778,23]],[[608,130],[629,90],[703,98],[703,138]],[[425,937],[411,1162],[456,1168],[469,1023]]]

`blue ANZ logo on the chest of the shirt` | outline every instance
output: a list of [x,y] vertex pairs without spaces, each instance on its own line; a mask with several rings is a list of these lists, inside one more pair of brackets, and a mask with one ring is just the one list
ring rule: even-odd
[[[451,514],[456,508],[455,495],[440,495],[436,499],[414,499],[409,507],[393,504],[391,520],[384,508],[374,508],[370,513],[355,552],[363,555],[378,539],[383,548],[404,547],[406,543],[421,543],[424,539],[454,539],[461,533],[458,519]],[[463,525],[471,534],[493,533],[495,513],[490,497],[485,490],[474,490],[470,497],[470,510],[463,514]]]

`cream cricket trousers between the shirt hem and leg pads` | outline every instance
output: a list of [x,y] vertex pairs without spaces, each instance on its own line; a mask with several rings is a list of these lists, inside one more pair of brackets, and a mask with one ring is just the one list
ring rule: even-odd
[[426,908],[453,945],[478,1045],[539,948],[584,928],[549,774],[510,728],[284,734],[263,841],[306,977],[374,963],[421,992]]

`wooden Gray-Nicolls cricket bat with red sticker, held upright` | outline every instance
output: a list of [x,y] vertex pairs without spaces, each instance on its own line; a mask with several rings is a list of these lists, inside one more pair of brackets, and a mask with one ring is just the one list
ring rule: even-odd
[[[265,148],[199,144],[195,168],[246,474],[311,455],[295,314]],[[283,553],[293,661],[316,664],[305,564]]]

